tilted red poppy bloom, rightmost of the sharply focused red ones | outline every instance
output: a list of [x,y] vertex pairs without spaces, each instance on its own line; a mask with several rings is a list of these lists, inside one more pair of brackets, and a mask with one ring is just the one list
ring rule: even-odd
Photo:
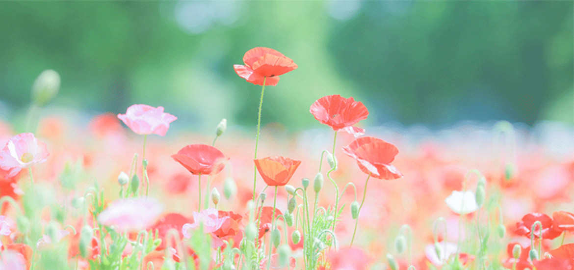
[[398,149],[389,142],[362,137],[343,147],[343,152],[357,161],[361,171],[370,173],[374,178],[393,180],[402,177],[402,173],[390,164]]

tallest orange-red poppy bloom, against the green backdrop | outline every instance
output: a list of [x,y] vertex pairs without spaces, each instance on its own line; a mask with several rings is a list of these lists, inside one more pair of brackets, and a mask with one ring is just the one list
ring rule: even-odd
[[[292,59],[274,49],[257,47],[250,49],[243,56],[245,65],[233,65],[237,75],[247,82],[262,86],[276,86],[279,75],[297,68]],[[266,79],[265,79],[266,78]]]

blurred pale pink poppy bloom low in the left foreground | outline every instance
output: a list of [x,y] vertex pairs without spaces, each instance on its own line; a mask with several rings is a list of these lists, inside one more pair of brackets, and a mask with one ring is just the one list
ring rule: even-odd
[[119,232],[135,232],[152,225],[163,210],[156,199],[119,199],[98,215],[98,221]]

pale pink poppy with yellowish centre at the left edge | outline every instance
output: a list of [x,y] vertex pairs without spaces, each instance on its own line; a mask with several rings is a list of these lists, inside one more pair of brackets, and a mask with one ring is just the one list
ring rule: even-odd
[[46,161],[50,154],[44,142],[32,133],[20,133],[8,140],[0,153],[0,167],[8,171],[8,178],[37,163]]

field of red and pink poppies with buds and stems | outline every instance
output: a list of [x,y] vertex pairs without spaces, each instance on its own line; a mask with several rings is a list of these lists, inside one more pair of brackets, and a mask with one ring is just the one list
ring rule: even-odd
[[241,61],[258,115],[207,132],[158,104],[50,113],[42,72],[26,121],[0,122],[0,270],[574,269],[571,126],[367,126],[333,93],[289,132],[261,115],[297,60]]

